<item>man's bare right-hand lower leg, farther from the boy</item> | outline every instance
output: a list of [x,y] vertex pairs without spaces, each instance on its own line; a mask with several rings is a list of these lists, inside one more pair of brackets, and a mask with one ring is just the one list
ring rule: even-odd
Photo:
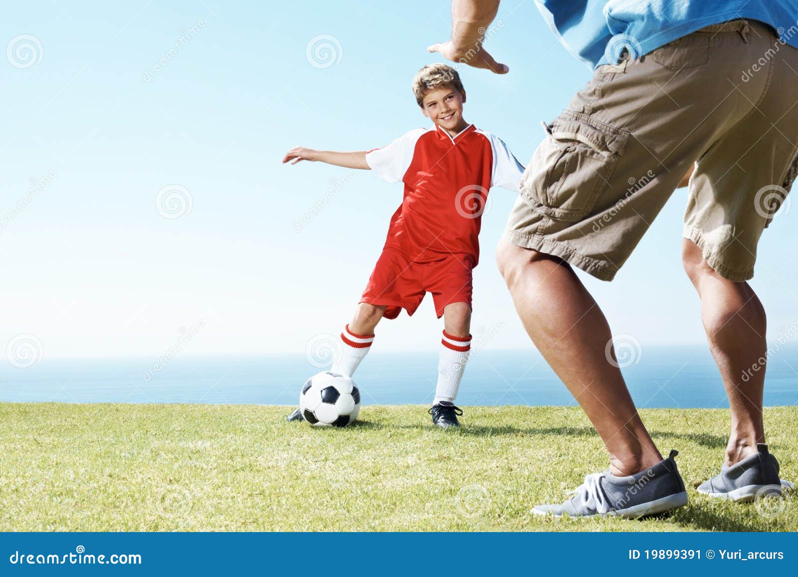
[[709,349],[729,396],[732,432],[725,464],[733,465],[756,453],[757,443],[764,443],[762,361],[767,355],[767,320],[762,303],[749,284],[721,277],[693,241],[682,242],[682,261],[701,297],[701,320]]

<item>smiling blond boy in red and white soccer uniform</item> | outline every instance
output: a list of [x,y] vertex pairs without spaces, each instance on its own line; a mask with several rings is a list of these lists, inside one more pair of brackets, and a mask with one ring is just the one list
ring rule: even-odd
[[[297,147],[282,159],[322,161],[373,169],[388,182],[402,181],[405,195],[393,213],[388,237],[350,324],[341,333],[342,356],[332,372],[352,376],[369,352],[374,328],[412,316],[425,292],[444,317],[438,380],[429,414],[441,428],[458,427],[454,404],[471,348],[472,269],[479,260],[481,215],[492,186],[518,191],[523,166],[503,141],[463,117],[465,90],[451,66],[425,66],[413,94],[433,128],[415,129],[381,149],[331,152]],[[297,409],[289,420],[302,420]]]

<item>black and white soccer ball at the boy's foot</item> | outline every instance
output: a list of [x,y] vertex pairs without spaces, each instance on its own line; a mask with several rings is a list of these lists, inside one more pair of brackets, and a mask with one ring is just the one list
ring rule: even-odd
[[320,372],[302,385],[299,410],[317,427],[346,427],[358,418],[360,391],[354,380],[337,372]]

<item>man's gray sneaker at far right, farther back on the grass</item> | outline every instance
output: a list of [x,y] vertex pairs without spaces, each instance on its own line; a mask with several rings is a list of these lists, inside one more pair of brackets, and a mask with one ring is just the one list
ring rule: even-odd
[[704,481],[698,492],[732,501],[753,501],[762,496],[781,496],[782,489],[792,489],[792,483],[779,479],[779,462],[768,452],[768,445],[757,443],[757,454],[731,467],[725,465],[721,474]]

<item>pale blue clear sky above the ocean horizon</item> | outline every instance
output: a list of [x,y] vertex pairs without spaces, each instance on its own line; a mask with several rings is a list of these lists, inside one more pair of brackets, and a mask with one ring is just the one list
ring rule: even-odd
[[[510,74],[462,70],[465,117],[526,163],[540,121],[590,71],[559,46],[531,0],[503,2],[499,19],[488,49]],[[35,40],[27,39],[33,62],[9,47],[0,58],[0,344],[24,333],[46,356],[159,354],[202,320],[192,354],[300,352],[314,335],[340,332],[401,185],[280,159],[294,145],[370,149],[426,125],[410,81],[440,61],[425,49],[447,39],[449,26],[447,2],[6,7],[3,45]],[[332,47],[332,61],[314,62],[312,44],[308,58],[314,38]],[[163,216],[177,216],[156,207],[169,185],[179,187],[169,189],[173,198],[190,197],[190,212]],[[491,194],[474,331],[501,323],[486,348],[525,347],[492,259],[514,194]],[[616,281],[582,275],[613,332],[643,347],[704,342],[681,270],[685,201],[685,189],[674,193]],[[764,234],[752,283],[772,335],[798,319],[793,218],[776,218]],[[434,348],[440,328],[425,300],[413,318],[377,332],[381,350],[406,350]]]

